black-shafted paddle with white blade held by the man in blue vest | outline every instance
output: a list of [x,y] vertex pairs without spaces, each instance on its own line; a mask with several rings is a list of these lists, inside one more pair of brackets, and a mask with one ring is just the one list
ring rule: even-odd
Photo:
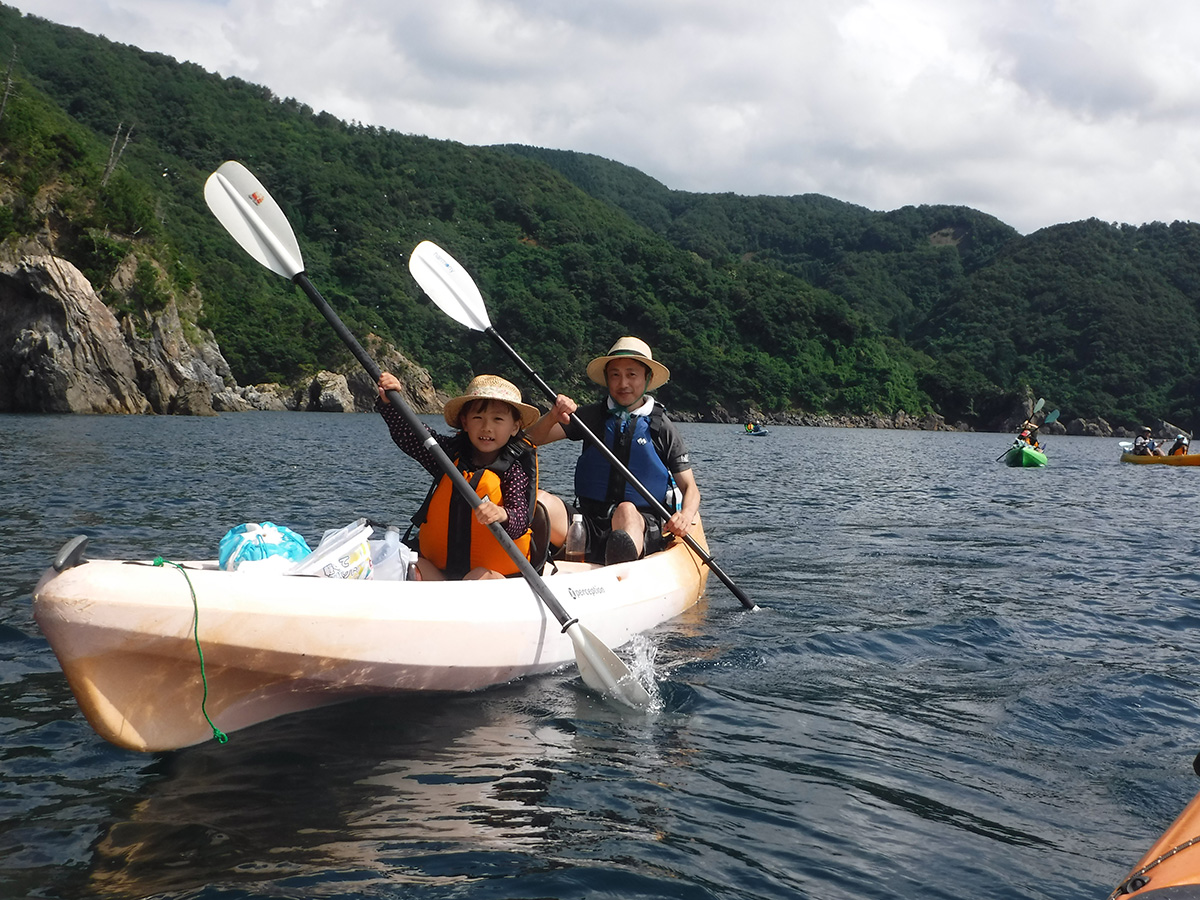
[[[413,250],[412,256],[408,258],[408,269],[413,272],[413,277],[416,278],[416,283],[421,286],[421,289],[428,294],[430,299],[437,304],[438,308],[442,310],[446,316],[449,316],[455,322],[466,325],[475,331],[482,331],[488,335],[496,343],[500,346],[509,356],[512,359],[521,371],[524,372],[529,378],[534,380],[542,394],[545,394],[551,402],[553,402],[558,394],[551,388],[546,382],[542,380],[541,376],[530,368],[529,364],[526,362],[521,355],[514,350],[509,342],[505,341],[500,334],[492,328],[492,323],[487,317],[487,308],[484,306],[484,296],[479,293],[479,287],[475,281],[467,274],[458,263],[446,253],[442,247],[432,241],[421,241]],[[671,514],[667,512],[666,506],[654,497],[649,490],[642,485],[634,474],[622,464],[612,450],[598,438],[592,431],[580,421],[580,418],[571,413],[571,422],[582,431],[584,438],[599,450],[604,457],[613,466],[624,479],[646,498],[647,503],[654,509],[654,512],[666,521],[671,518]],[[733,581],[721,571],[721,568],[713,560],[713,557],[696,542],[696,539],[690,534],[683,536],[684,542],[692,548],[692,551],[704,560],[704,564],[709,570],[716,575],[721,582],[733,592],[733,595],[742,601],[742,605],[748,610],[757,610],[758,606],[754,600],[748,598],[745,593],[739,588]]]

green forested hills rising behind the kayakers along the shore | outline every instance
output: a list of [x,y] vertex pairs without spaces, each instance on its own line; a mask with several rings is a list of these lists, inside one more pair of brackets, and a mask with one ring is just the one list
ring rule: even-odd
[[[1190,223],[1022,238],[965,208],[690,194],[598,157],[343,122],[11,7],[0,36],[16,47],[0,239],[54,234],[97,284],[130,252],[158,260],[199,288],[198,324],[241,383],[295,379],[344,352],[209,215],[203,184],[227,158],[280,200],[352,329],[392,338],[448,389],[511,364],[420,295],[407,257],[424,239],[572,391],[587,388],[583,360],[635,332],[671,366],[662,397],[683,412],[905,409],[985,427],[1032,389],[1064,418],[1198,418]],[[146,272],[145,287],[155,302],[162,284]]]

